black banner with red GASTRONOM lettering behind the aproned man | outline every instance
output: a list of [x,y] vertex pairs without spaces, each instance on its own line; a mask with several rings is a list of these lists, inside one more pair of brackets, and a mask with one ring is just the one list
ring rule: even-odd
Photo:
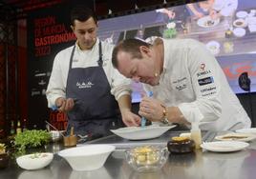
[[32,128],[42,128],[45,120],[63,129],[65,115],[47,106],[46,89],[55,54],[75,44],[70,28],[69,6],[36,10],[30,14],[28,27],[28,104]]

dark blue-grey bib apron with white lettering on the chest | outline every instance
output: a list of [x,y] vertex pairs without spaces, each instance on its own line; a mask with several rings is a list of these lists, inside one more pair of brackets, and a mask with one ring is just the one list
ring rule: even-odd
[[101,137],[111,134],[110,129],[122,126],[117,101],[111,94],[107,76],[102,68],[101,43],[97,67],[72,68],[75,46],[72,50],[67,79],[67,98],[75,99],[74,109],[68,112],[68,128],[75,134]]

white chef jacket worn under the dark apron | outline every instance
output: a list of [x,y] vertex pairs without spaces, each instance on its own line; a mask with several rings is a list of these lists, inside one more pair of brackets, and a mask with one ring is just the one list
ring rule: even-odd
[[[75,43],[76,47],[72,67],[88,68],[98,66],[98,43],[99,40],[97,39],[96,45],[92,50],[80,50]],[[120,74],[112,65],[112,50],[114,49],[114,45],[101,42],[101,46],[103,61],[102,67],[110,84],[111,93],[115,96],[116,100],[118,100],[121,95],[131,94],[131,80]],[[53,70],[46,91],[49,108],[52,108],[55,105],[55,100],[58,97],[66,98],[69,63],[73,48],[74,46],[61,50],[54,58]]]

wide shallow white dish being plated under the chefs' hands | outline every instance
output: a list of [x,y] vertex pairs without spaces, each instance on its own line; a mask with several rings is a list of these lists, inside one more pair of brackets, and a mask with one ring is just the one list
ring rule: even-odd
[[151,125],[146,127],[126,127],[120,129],[111,129],[111,131],[118,136],[129,140],[143,140],[160,137],[168,129],[176,127],[175,125],[160,127]]

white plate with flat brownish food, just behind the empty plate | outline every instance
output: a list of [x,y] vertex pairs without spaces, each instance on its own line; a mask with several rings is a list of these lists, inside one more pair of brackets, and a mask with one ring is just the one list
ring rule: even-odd
[[215,137],[217,140],[221,141],[244,141],[249,142],[256,139],[256,135],[247,133],[227,133],[224,135],[218,135]]

